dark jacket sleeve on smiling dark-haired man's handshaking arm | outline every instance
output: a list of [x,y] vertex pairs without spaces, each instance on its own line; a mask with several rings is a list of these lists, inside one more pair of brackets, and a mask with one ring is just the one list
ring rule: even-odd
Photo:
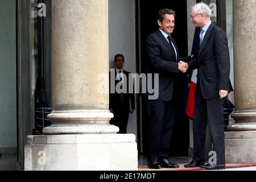
[[146,40],[146,51],[154,68],[167,72],[178,72],[177,62],[163,60],[160,54],[160,46],[152,37],[148,37]]

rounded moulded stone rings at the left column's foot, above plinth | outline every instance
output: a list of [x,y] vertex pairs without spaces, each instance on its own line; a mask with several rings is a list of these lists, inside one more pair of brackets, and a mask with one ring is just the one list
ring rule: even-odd
[[47,115],[52,125],[44,127],[43,134],[115,134],[119,128],[110,125],[114,115],[109,110],[63,110]]

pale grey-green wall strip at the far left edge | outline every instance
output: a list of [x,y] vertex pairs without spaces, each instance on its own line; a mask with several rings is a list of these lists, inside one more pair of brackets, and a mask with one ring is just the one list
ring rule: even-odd
[[0,150],[16,147],[15,0],[0,1]]

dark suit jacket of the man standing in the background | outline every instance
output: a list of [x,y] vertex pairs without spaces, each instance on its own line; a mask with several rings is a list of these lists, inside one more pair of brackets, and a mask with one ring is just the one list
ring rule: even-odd
[[[117,72],[116,69],[114,69],[112,72],[109,72],[110,75],[111,73],[114,72],[115,77],[117,76]],[[133,93],[129,93],[129,80],[131,79],[131,77],[129,77],[129,73],[125,70],[123,70],[123,74],[126,75],[127,77],[127,87],[123,86],[123,89],[126,90],[126,93],[123,93],[123,97],[125,98],[124,102],[121,102],[121,98],[120,98],[120,94],[116,92],[111,93],[109,92],[109,109],[113,109],[113,110],[117,110],[117,109],[127,109],[127,111],[129,111],[130,109],[130,101],[131,101],[131,109],[135,109],[135,94],[134,94],[134,89],[133,89]],[[113,80],[109,75],[109,83],[111,83],[112,81],[115,82],[115,86],[118,84],[119,80]],[[111,84],[110,84],[111,85]],[[110,88],[110,86],[109,86]]]

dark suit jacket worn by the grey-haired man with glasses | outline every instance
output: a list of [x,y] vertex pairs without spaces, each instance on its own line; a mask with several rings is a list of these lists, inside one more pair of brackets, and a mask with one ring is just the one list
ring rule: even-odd
[[216,24],[210,24],[201,46],[197,31],[196,54],[188,61],[189,68],[198,68],[197,83],[205,99],[217,98],[219,90],[231,91],[228,38]]

